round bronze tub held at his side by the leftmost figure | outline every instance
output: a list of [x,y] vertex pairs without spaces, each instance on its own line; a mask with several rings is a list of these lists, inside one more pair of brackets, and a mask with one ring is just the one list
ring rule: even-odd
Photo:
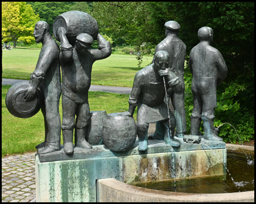
[[5,103],[8,111],[15,117],[29,118],[39,112],[42,105],[42,95],[39,88],[36,90],[35,97],[30,101],[24,100],[24,90],[28,82],[19,82],[9,88]]

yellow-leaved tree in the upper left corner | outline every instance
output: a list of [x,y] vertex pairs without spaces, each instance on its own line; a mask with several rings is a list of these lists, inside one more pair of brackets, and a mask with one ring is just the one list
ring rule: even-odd
[[2,40],[35,42],[33,31],[39,16],[25,2],[2,2]]

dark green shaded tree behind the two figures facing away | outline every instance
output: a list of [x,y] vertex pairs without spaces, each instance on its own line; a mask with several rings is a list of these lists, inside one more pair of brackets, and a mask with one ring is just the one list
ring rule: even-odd
[[223,86],[242,84],[236,97],[254,111],[254,2],[149,2],[147,6],[152,35],[163,39],[168,20],[181,25],[179,37],[187,45],[187,58],[199,43],[199,28],[211,27],[212,46],[220,50],[229,70]]

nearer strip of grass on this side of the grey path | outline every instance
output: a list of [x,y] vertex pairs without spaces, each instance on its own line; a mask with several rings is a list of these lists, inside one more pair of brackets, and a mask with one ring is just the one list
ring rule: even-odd
[[[35,151],[35,146],[44,141],[44,119],[39,111],[31,118],[18,118],[9,113],[5,105],[6,93],[11,86],[2,85],[2,157],[7,154],[22,154]],[[109,113],[128,111],[129,95],[106,92],[89,92],[90,111]],[[134,113],[136,120],[137,112]],[[60,98],[60,118],[62,105]],[[61,144],[63,144],[61,133]]]

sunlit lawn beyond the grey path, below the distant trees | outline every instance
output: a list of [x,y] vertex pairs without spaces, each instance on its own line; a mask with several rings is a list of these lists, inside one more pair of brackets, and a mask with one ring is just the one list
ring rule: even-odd
[[[3,50],[3,78],[30,79],[35,70],[40,49],[14,48]],[[133,87],[134,75],[152,62],[152,56],[144,56],[141,68],[130,54],[112,54],[106,59],[94,62],[92,84],[104,86]]]

